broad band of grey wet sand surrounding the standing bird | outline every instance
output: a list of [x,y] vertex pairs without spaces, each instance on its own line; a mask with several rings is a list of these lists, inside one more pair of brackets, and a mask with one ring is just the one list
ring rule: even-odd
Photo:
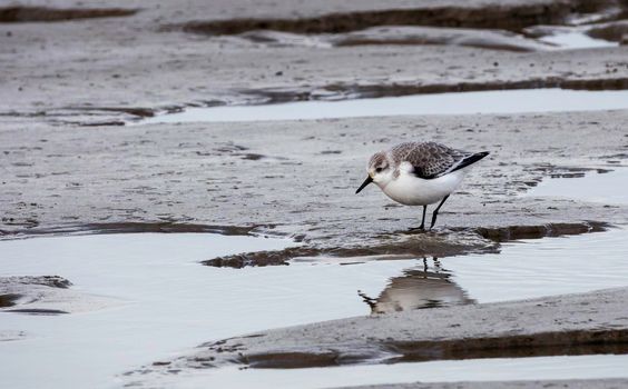
[[[255,228],[317,248],[410,241],[425,247],[413,253],[458,253],[492,243],[482,235],[500,236],[510,226],[625,222],[621,206],[520,194],[550,173],[624,164],[626,120],[616,111],[80,130],[9,122],[0,132],[1,229],[161,221]],[[416,227],[420,210],[394,205],[375,188],[354,194],[373,152],[416,139],[491,151],[428,235],[399,233]],[[487,230],[474,233],[479,227]]]

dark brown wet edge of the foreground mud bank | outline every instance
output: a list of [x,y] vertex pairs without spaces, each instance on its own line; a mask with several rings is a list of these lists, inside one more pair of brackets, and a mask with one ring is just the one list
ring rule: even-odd
[[[481,358],[524,358],[628,353],[628,330],[560,331],[530,336],[468,338],[442,341],[383,341],[370,351],[244,355],[238,362],[257,369],[297,369],[384,361],[385,363]],[[395,357],[390,357],[395,356]]]

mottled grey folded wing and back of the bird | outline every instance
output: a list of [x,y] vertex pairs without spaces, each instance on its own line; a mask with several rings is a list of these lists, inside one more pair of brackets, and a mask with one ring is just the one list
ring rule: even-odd
[[411,163],[416,177],[432,179],[455,170],[473,153],[435,142],[408,142],[395,146],[391,156],[396,164],[403,161]]

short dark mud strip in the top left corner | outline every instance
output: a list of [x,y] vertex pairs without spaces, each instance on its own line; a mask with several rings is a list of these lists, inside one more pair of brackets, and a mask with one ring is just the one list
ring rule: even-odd
[[0,23],[129,17],[138,11],[137,9],[121,8],[0,7]]

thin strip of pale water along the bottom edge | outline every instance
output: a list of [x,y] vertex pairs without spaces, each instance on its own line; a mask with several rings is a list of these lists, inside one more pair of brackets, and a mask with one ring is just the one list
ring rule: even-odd
[[223,368],[168,377],[168,388],[340,388],[402,382],[628,378],[628,355],[468,359],[308,369]]

